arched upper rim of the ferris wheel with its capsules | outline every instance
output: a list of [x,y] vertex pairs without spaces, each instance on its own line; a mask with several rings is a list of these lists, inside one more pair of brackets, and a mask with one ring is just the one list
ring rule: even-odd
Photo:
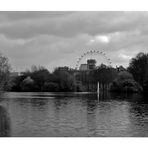
[[103,51],[100,51],[100,50],[89,50],[87,52],[84,52],[78,59],[77,59],[77,63],[76,63],[76,66],[75,66],[75,69],[78,70],[78,68],[80,67],[80,64],[82,62],[82,60],[84,58],[93,58],[95,56],[98,56],[98,57],[102,57],[105,61],[106,61],[106,64],[108,66],[111,66],[112,62],[111,60],[106,56],[105,52]]

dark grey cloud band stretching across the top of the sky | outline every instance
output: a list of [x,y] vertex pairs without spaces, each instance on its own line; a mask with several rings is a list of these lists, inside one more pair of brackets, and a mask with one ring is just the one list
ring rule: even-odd
[[[0,24],[0,32],[10,37],[32,37],[40,34],[52,34],[71,37],[78,34],[107,34],[143,29],[147,26],[147,13],[128,12],[71,12],[65,15],[54,13],[25,13],[26,15],[6,14],[7,21]],[[32,17],[29,17],[30,16]],[[52,15],[51,15],[52,14]],[[59,13],[58,13],[59,14]],[[61,13],[62,14],[62,13]],[[12,17],[13,16],[13,17]],[[14,16],[19,16],[17,19]],[[38,17],[37,17],[38,16]],[[12,17],[12,18],[11,18]],[[9,18],[11,18],[9,20]]]

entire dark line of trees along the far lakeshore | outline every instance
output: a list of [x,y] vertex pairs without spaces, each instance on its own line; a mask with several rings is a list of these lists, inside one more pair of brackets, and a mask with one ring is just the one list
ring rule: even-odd
[[[122,67],[122,66],[121,66]],[[96,70],[77,72],[68,67],[58,67],[53,72],[42,66],[32,66],[21,75],[11,77],[8,58],[0,54],[0,91],[15,92],[74,92],[92,91],[87,84],[108,86],[111,92],[148,92],[148,54],[138,53],[125,69],[101,64]],[[96,89],[96,88],[95,88]]]

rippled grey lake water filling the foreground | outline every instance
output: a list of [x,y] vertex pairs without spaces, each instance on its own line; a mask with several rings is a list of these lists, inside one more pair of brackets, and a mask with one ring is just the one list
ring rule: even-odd
[[91,93],[4,93],[0,136],[148,136],[148,99]]

